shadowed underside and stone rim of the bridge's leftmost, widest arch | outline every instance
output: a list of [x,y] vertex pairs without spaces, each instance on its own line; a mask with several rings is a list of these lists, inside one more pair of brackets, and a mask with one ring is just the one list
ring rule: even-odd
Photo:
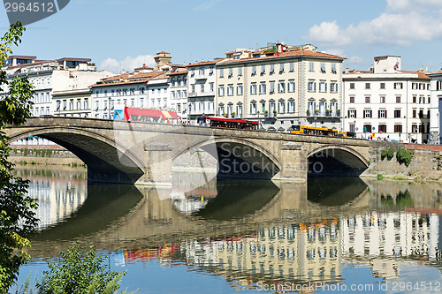
[[9,141],[29,136],[49,139],[79,157],[88,165],[89,183],[134,184],[144,174],[144,162],[138,156],[103,134],[65,126],[50,127],[16,133]]

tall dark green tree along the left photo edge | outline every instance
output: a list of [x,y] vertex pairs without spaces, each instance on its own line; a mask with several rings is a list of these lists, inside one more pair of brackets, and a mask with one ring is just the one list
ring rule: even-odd
[[[24,31],[25,27],[18,22],[0,39],[0,68]],[[13,176],[14,165],[8,160],[11,149],[4,129],[7,125],[23,124],[30,117],[34,92],[27,78],[8,82],[4,71],[0,71],[0,92],[6,93],[0,101],[0,293],[6,293],[17,280],[19,267],[29,259],[24,248],[30,245],[27,237],[37,225],[33,210],[37,203],[27,196],[28,182]]]

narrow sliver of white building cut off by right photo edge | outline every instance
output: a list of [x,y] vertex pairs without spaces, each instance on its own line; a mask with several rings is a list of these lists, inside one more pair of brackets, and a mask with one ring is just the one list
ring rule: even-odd
[[429,74],[429,76],[431,78],[430,141],[433,144],[441,144],[442,70]]

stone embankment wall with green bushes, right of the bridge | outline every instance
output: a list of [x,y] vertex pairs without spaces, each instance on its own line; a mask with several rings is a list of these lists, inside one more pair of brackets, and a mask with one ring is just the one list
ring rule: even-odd
[[[388,148],[394,150],[391,159],[382,159],[381,152]],[[414,152],[410,164],[398,162],[396,157],[400,148]],[[391,142],[387,146],[370,150],[370,168],[363,176],[404,177],[415,180],[442,180],[442,146],[434,145],[404,145]]]

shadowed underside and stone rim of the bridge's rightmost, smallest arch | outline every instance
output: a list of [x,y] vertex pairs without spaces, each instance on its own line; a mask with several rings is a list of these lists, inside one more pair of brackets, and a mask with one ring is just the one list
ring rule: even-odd
[[351,147],[317,147],[307,155],[309,177],[359,177],[369,167],[368,160]]

